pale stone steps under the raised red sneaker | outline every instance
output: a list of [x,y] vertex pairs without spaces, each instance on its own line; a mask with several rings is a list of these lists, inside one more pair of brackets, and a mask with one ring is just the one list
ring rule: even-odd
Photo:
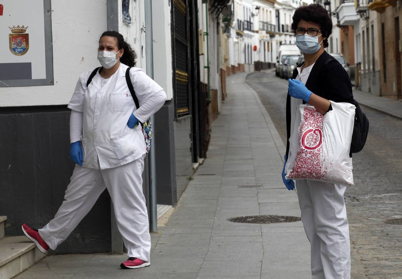
[[10,279],[45,256],[26,236],[3,237],[0,239],[0,278]]

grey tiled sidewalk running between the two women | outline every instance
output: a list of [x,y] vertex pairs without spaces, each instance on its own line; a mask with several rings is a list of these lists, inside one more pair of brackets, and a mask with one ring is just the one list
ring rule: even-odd
[[310,244],[301,222],[227,220],[300,216],[296,193],[281,179],[285,147],[245,77],[228,77],[228,98],[212,125],[208,158],[162,233],[152,236],[150,267],[122,270],[122,255],[57,255],[16,278],[311,278]]

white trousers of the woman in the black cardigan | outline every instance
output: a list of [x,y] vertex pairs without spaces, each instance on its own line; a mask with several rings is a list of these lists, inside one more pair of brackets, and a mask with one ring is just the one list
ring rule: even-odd
[[301,221],[311,244],[313,279],[350,279],[349,223],[343,194],[346,186],[297,180]]

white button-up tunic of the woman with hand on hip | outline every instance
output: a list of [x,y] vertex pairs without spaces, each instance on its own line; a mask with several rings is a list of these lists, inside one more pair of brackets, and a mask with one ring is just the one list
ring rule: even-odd
[[[131,129],[127,126],[131,114],[144,122],[166,101],[162,87],[146,75],[145,71],[133,67],[130,79],[139,102],[139,110],[131,97],[125,79],[127,65],[120,63],[119,69],[108,79],[99,71],[86,88],[88,77],[94,69],[80,75],[68,108],[83,112],[82,166],[92,169],[109,169],[127,164],[146,153],[141,125]],[[155,106],[142,106],[159,92]]]

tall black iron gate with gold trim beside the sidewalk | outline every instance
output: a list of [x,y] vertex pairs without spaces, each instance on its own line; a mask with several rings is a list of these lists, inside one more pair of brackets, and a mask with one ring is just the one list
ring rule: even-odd
[[209,143],[208,91],[202,90],[199,62],[198,3],[171,0],[172,64],[176,120],[191,115],[191,151],[194,163],[205,158]]

